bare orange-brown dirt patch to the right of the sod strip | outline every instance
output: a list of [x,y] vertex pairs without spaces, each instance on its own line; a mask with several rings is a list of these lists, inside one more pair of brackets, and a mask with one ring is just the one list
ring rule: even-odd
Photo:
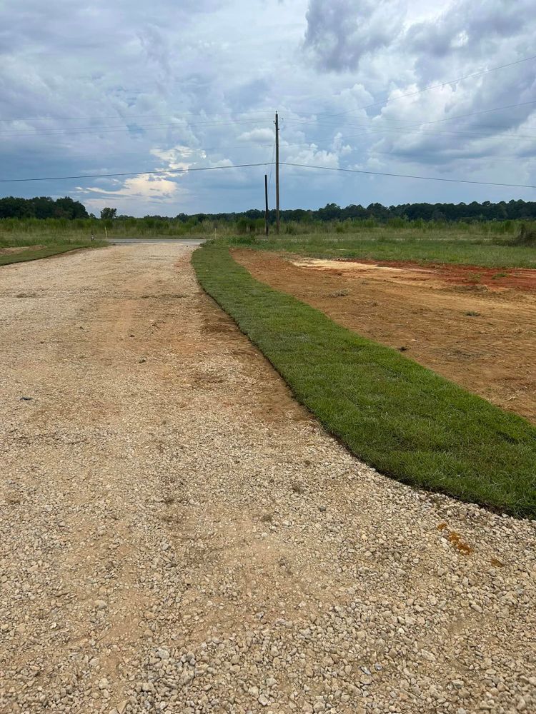
[[233,254],[255,278],[536,422],[536,271]]

